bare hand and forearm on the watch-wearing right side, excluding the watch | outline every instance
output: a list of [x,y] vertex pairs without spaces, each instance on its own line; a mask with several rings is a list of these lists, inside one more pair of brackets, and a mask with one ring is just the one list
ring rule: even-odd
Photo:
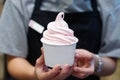
[[[111,75],[117,66],[117,59],[110,57],[102,57],[103,69],[101,72],[95,72],[98,64],[98,58],[91,52],[84,49],[76,50],[76,64],[81,62],[79,66],[75,66],[73,75],[79,78],[85,78],[86,75],[95,74],[97,76]],[[92,64],[91,64],[92,63]]]

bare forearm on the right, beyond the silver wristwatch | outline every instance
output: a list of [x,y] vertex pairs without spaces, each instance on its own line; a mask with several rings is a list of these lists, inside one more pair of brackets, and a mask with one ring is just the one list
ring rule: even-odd
[[[98,76],[111,75],[116,70],[117,59],[113,59],[110,57],[101,57],[101,59],[103,63],[102,71],[95,72],[95,75]],[[94,57],[94,60],[95,60],[95,68],[97,68],[98,58]]]

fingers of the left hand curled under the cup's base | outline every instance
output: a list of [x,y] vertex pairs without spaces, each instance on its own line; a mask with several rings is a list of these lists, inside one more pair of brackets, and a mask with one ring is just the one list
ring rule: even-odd
[[71,67],[66,64],[62,69],[59,64],[55,65],[53,69],[47,72],[40,73],[41,80],[64,80],[72,73]]

